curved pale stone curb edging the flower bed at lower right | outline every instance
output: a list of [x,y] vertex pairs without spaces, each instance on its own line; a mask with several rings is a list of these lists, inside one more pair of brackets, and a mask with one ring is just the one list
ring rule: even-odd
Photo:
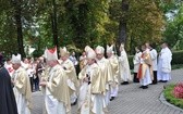
[[173,107],[173,109],[175,109],[175,110],[179,110],[179,111],[183,112],[183,110],[182,110],[181,107],[178,107],[178,106],[175,106],[175,105],[173,105],[173,104],[167,102],[167,100],[166,100],[166,98],[164,98],[164,96],[163,96],[163,91],[160,93],[159,100],[160,100],[163,104],[166,104],[166,105],[168,105],[168,106],[171,106],[171,107]]

